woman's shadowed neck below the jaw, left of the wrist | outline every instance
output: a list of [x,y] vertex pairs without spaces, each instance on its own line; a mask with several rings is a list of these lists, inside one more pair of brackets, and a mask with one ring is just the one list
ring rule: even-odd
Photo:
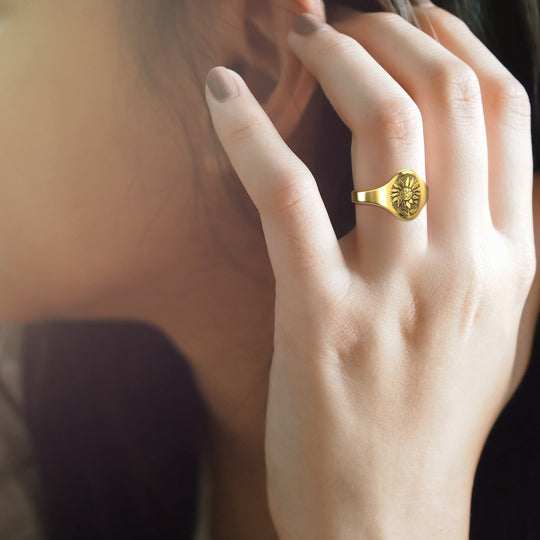
[[215,261],[199,272],[182,314],[160,326],[188,358],[208,410],[211,537],[276,540],[264,455],[274,280],[265,250],[237,261],[241,269]]

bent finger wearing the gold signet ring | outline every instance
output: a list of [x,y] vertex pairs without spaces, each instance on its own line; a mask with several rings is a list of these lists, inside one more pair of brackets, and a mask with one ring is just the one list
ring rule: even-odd
[[[304,17],[305,26],[315,21]],[[293,28],[302,31],[299,22]],[[356,190],[378,188],[402,169],[425,179],[420,112],[357,41],[324,25],[309,35],[291,32],[289,44],[352,131]],[[426,210],[402,221],[384,209],[357,205],[356,218],[361,265],[382,258],[388,263],[389,257],[401,264],[426,250]]]

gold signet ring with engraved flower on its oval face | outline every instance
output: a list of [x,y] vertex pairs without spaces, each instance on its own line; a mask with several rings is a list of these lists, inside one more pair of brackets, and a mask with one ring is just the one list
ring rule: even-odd
[[428,197],[428,187],[410,169],[399,171],[380,188],[351,193],[353,203],[381,206],[397,218],[407,221],[418,216]]

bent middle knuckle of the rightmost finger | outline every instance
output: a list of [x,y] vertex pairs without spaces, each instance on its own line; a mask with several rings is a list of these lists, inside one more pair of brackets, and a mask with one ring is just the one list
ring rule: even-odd
[[486,106],[497,116],[516,116],[527,123],[531,118],[531,101],[525,87],[508,76],[486,86]]

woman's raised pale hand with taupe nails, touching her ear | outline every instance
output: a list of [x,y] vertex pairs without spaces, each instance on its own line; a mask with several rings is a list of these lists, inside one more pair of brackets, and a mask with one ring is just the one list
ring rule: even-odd
[[354,15],[350,35],[289,35],[353,133],[355,189],[405,168],[426,180],[413,221],[358,205],[338,241],[242,79],[228,72],[228,100],[207,90],[276,278],[266,460],[284,539],[467,537],[479,455],[514,388],[535,273],[529,99],[459,19],[416,12],[440,43],[388,13]]

